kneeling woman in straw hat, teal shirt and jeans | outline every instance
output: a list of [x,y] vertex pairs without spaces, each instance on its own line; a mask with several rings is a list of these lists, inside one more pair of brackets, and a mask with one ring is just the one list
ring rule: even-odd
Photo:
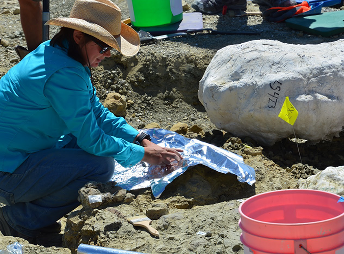
[[76,208],[78,189],[109,181],[114,159],[169,165],[179,149],[163,148],[114,116],[95,94],[91,67],[114,48],[135,55],[140,38],[121,23],[110,0],[76,0],[51,41],[25,56],[0,80],[0,230],[33,241],[59,230]]

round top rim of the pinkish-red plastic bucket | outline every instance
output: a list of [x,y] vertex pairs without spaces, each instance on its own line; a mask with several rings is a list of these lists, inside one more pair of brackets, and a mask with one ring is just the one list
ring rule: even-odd
[[332,217],[332,218],[329,218],[329,219],[324,219],[324,220],[319,220],[319,221],[313,221],[313,222],[309,222],[309,223],[271,223],[271,222],[267,222],[267,221],[262,221],[262,220],[257,220],[257,219],[254,219],[254,218],[251,218],[249,216],[247,216],[245,213],[243,213],[242,211],[242,207],[245,205],[245,203],[247,201],[250,201],[256,197],[259,197],[259,196],[266,196],[266,195],[270,195],[271,193],[279,193],[279,192],[319,192],[319,193],[323,193],[323,194],[326,194],[326,195],[330,195],[330,196],[337,196],[338,197],[338,200],[341,196],[337,195],[337,194],[334,194],[334,193],[329,193],[329,192],[324,192],[324,190],[317,190],[317,189],[279,189],[279,190],[272,190],[271,192],[265,192],[265,193],[260,193],[260,194],[257,194],[257,195],[254,195],[250,198],[248,198],[247,200],[245,200],[243,203],[240,204],[239,206],[239,213],[240,213],[240,216],[243,216],[244,218],[248,219],[248,220],[251,220],[251,221],[254,221],[255,223],[263,223],[264,225],[271,225],[271,226],[278,226],[278,227],[290,227],[290,226],[306,226],[306,225],[316,225],[316,224],[322,224],[326,221],[331,221],[331,220],[335,220],[335,219],[338,219],[339,217],[343,216],[344,215],[344,211],[335,216],[335,217]]

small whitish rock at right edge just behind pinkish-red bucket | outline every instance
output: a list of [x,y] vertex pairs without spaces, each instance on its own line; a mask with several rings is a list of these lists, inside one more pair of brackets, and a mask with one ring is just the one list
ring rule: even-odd
[[[327,167],[323,171],[307,178],[308,188],[323,190],[339,196],[344,195],[344,166]],[[307,188],[305,180],[299,180],[299,188]]]

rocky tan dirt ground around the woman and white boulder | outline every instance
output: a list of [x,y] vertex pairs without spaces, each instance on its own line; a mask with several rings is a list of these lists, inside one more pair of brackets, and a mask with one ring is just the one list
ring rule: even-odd
[[[73,2],[51,0],[50,16],[68,16]],[[123,19],[128,18],[125,0],[113,2],[121,8]],[[3,0],[2,3],[0,77],[19,61],[14,46],[25,46],[18,2]],[[194,11],[192,0],[184,3],[184,12]],[[248,11],[265,9],[248,2]],[[323,8],[323,12],[338,10],[343,7]],[[255,169],[256,183],[250,186],[238,182],[233,175],[195,166],[169,184],[159,199],[153,198],[150,189],[142,189],[127,192],[129,199],[125,202],[104,204],[95,209],[80,206],[61,219],[63,228],[67,227],[60,234],[42,236],[37,245],[2,236],[0,249],[18,240],[24,244],[27,254],[75,253],[80,243],[144,253],[243,254],[238,207],[245,198],[271,190],[297,188],[299,178],[306,178],[328,166],[344,165],[343,134],[319,144],[297,140],[305,165],[302,166],[295,139],[288,138],[272,147],[263,147],[250,138],[233,137],[209,121],[197,98],[198,82],[211,58],[227,45],[260,39],[319,44],[343,39],[343,34],[328,38],[309,35],[287,28],[284,23],[264,21],[261,16],[203,15],[203,26],[238,33],[255,31],[259,35],[211,35],[204,32],[144,44],[134,57],[113,52],[93,70],[98,97],[103,101],[109,92],[125,96],[125,118],[138,129],[153,124],[150,126],[170,130],[178,122],[186,123],[188,129],[182,133],[184,136],[243,156],[245,163]],[[56,31],[57,28],[50,26],[50,38]],[[105,186],[102,190],[109,192],[111,188]],[[107,206],[116,207],[129,216],[150,214],[154,217],[152,226],[160,232],[160,237],[152,237],[146,230],[133,227],[105,210]]]

